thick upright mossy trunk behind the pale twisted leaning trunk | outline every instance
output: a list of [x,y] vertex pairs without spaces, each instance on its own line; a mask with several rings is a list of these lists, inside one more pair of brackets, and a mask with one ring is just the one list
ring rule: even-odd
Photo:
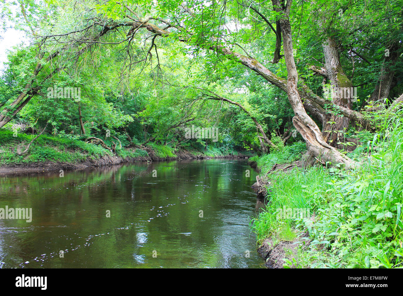
[[[331,96],[330,99],[337,106],[351,109],[353,84],[344,74],[341,67],[338,46],[332,37],[328,37],[322,43],[322,48],[325,58],[326,77],[330,82],[330,89],[328,90]],[[349,127],[350,120],[348,117],[339,116],[339,114],[327,113],[325,121],[325,125],[322,127],[323,138],[330,146],[338,147],[337,143],[343,140],[340,140],[340,137],[344,137],[343,134]]]

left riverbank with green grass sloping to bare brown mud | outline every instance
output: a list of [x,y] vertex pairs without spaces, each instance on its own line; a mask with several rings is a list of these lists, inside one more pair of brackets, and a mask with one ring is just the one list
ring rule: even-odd
[[133,145],[110,151],[99,145],[79,140],[39,136],[27,153],[19,155],[31,142],[31,136],[19,134],[14,137],[7,130],[0,131],[0,175],[19,172],[71,171],[106,165],[137,161],[166,161],[201,158],[244,158],[251,153],[220,153],[217,151],[188,151],[173,149],[166,145]]

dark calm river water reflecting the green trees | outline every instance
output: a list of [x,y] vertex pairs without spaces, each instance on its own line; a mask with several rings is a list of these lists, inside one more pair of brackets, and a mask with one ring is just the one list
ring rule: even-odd
[[255,176],[207,159],[0,177],[0,208],[32,208],[0,219],[0,267],[264,267]]

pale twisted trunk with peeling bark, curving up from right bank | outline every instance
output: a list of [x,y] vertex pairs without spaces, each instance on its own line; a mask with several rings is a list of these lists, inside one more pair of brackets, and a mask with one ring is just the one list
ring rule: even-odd
[[308,116],[299,97],[297,82],[298,73],[293,56],[293,41],[291,37],[291,25],[289,21],[289,12],[292,0],[287,1],[285,9],[280,5],[279,0],[272,0],[274,9],[281,16],[280,25],[283,32],[283,48],[285,62],[287,66],[287,94],[291,107],[294,110],[293,124],[301,134],[307,145],[308,153],[322,163],[331,161],[333,164],[341,163],[350,167],[354,162],[342,155],[337,149],[326,143],[322,132],[314,120]]

